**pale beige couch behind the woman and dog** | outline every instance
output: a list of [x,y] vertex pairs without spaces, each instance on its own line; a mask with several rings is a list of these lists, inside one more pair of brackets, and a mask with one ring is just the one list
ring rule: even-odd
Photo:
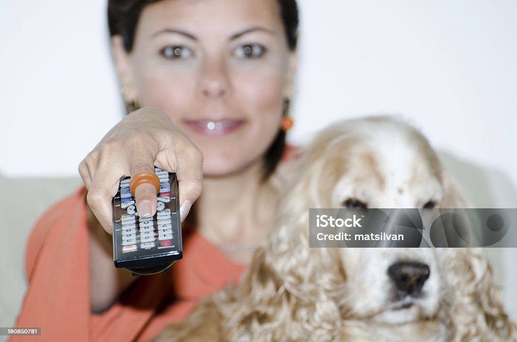
[[[443,157],[443,156],[442,156]],[[462,167],[451,163],[450,159],[445,159],[448,168],[454,170],[454,174],[465,175]],[[461,166],[461,165],[460,165]],[[467,198],[471,199],[474,207],[504,207],[503,204],[514,205],[515,191],[508,195],[511,189],[509,183],[500,182],[500,175],[486,177],[485,173],[473,173],[472,167],[468,167],[468,177],[458,177],[465,182],[463,189],[467,189]],[[499,190],[497,196],[501,203],[490,200],[488,196],[494,190],[483,188],[482,180],[496,179],[490,183]],[[462,183],[460,181],[460,183]],[[16,320],[18,310],[23,300],[26,289],[26,279],[24,271],[24,251],[25,242],[29,231],[37,218],[57,200],[70,194],[74,189],[82,184],[80,178],[6,178],[0,175],[0,215],[2,223],[2,239],[0,239],[0,260],[2,263],[2,278],[0,281],[0,327],[12,327]],[[469,184],[476,184],[475,187],[468,189]],[[494,185],[495,184],[495,185]],[[502,194],[502,195],[501,195]],[[488,199],[487,199],[488,198]],[[517,320],[517,276],[514,272],[514,260],[517,258],[517,248],[485,248],[486,254],[491,259],[495,271],[495,282],[503,286],[505,306],[510,316]],[[0,336],[0,342],[6,340],[5,336]]]

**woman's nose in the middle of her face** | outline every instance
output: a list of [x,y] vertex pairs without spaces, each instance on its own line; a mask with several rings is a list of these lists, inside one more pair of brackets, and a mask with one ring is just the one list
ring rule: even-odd
[[224,96],[230,90],[230,80],[222,58],[207,60],[201,75],[201,91],[208,97]]

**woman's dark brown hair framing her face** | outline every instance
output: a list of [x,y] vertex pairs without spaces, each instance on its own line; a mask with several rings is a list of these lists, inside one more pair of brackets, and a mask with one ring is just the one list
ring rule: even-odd
[[[110,36],[120,35],[126,52],[131,52],[136,24],[144,7],[161,0],[108,0],[108,25]],[[296,0],[277,0],[285,28],[287,44],[296,50],[298,38],[298,6]],[[285,101],[287,103],[287,100]],[[275,172],[285,150],[285,131],[279,130],[265,154],[263,180]]]

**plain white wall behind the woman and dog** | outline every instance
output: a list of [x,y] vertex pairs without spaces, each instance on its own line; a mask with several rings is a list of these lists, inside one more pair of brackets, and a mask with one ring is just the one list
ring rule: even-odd
[[[105,3],[0,2],[4,176],[77,175],[123,115]],[[332,120],[400,114],[429,137],[474,206],[517,207],[517,2],[299,4],[292,142]],[[517,286],[517,251],[491,253],[503,260],[501,284]]]

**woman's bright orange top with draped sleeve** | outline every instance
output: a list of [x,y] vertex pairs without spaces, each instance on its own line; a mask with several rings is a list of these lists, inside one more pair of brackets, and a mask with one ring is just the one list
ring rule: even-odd
[[198,232],[183,237],[183,259],[170,273],[142,276],[101,314],[90,313],[86,189],[50,208],[27,242],[28,288],[17,327],[41,327],[41,336],[11,341],[147,341],[185,318],[197,301],[246,266],[232,263]]

